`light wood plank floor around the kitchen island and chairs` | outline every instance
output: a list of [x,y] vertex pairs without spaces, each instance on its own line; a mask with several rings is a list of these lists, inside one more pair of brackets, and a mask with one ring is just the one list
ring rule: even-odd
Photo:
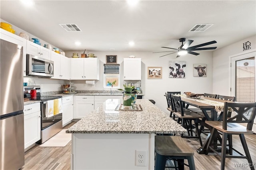
[[[72,122],[64,129],[72,126],[76,122]],[[205,135],[202,135],[204,141]],[[220,156],[215,153],[208,155],[198,154],[196,149],[200,147],[197,139],[184,138],[188,145],[195,150],[194,160],[197,170],[219,170],[220,169]],[[256,163],[256,135],[246,135],[246,142],[252,157],[253,163]],[[234,147],[244,153],[238,135],[233,135]],[[39,147],[36,145],[32,149],[25,152],[25,165],[22,170],[70,170],[70,154],[71,142],[66,147]],[[185,161],[186,163],[186,161]],[[226,158],[226,170],[246,170],[250,168],[235,168],[236,163],[248,163],[246,159]],[[254,166],[255,167],[255,166]],[[166,168],[170,170],[171,168]],[[189,168],[185,166],[185,170]]]

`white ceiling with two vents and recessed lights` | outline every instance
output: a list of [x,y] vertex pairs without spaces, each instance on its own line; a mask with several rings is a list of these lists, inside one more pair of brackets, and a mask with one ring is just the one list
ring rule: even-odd
[[[0,8],[0,18],[64,51],[166,51],[161,47],[178,48],[182,37],[194,40],[190,47],[216,40],[208,47],[220,49],[256,34],[256,0],[142,0],[135,7],[124,0],[36,0],[32,7],[1,0]],[[200,23],[214,25],[188,32]]]

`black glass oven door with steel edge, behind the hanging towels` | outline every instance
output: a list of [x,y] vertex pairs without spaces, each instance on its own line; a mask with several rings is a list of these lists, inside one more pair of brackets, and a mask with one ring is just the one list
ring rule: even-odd
[[46,117],[46,104],[47,104],[46,101],[41,102],[41,119],[42,119],[41,130],[62,120],[62,113],[53,115],[52,117]]

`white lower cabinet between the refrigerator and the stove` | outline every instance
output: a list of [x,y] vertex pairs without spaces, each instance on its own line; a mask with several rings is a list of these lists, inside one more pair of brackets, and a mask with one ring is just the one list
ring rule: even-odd
[[40,103],[24,106],[24,149],[41,139]]

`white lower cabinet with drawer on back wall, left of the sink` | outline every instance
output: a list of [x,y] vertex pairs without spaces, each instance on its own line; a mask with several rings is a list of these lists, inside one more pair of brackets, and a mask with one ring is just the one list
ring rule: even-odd
[[94,110],[94,96],[75,96],[74,119],[82,119]]

